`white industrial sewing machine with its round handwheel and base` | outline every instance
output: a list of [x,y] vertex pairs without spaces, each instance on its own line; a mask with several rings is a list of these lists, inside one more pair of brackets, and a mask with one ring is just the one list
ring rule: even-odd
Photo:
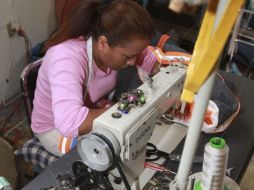
[[[153,141],[156,141],[154,143],[159,148],[160,142],[163,143],[168,152],[182,139],[173,137],[177,129],[168,131],[169,126],[156,127],[156,122],[178,100],[185,74],[186,68],[181,63],[161,68],[158,74],[135,91],[144,96],[145,102],[136,103],[138,105],[131,106],[127,111],[121,110],[119,104],[114,105],[96,118],[92,132],[81,137],[78,143],[83,162],[89,168],[103,172],[112,168],[115,157],[120,157],[123,173],[131,189],[142,189],[154,173],[144,169],[146,144],[152,134]],[[182,129],[178,132],[182,133]],[[117,169],[110,173],[123,177]],[[112,186],[122,189],[124,184],[113,183]]]

